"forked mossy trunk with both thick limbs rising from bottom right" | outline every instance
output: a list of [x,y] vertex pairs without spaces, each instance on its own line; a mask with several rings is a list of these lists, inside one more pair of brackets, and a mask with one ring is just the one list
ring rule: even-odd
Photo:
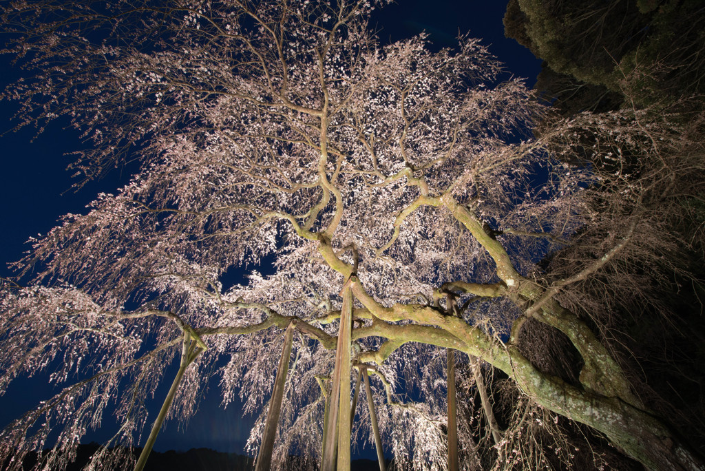
[[[444,198],[448,200],[448,197]],[[471,227],[472,224],[477,225],[477,221],[467,209],[460,208],[458,204],[451,206],[454,214],[458,213],[465,218],[459,218],[461,223],[467,222]],[[525,291],[530,288],[529,281],[512,271],[503,247],[491,238],[489,242],[479,242],[483,246],[489,245],[492,249],[488,250],[490,255],[498,266],[505,267],[502,272],[498,269],[498,275],[507,286],[515,288],[516,293],[525,295]],[[327,260],[329,254],[324,250],[321,250],[321,254]],[[341,271],[343,274],[345,271],[349,273],[350,267],[341,267]],[[535,288],[535,284],[533,286]],[[358,282],[353,283],[353,291],[355,298],[374,316],[372,326],[357,329],[357,337],[383,336],[387,339],[378,350],[359,355],[358,360],[361,362],[375,362],[381,365],[389,355],[407,342],[455,348],[467,355],[481,357],[501,369],[541,406],[605,434],[613,445],[621,448],[649,470],[705,471],[705,459],[692,450],[687,441],[665,422],[639,406],[639,401],[634,400],[618,364],[608,355],[606,348],[599,343],[594,333],[587,329],[587,325],[570,312],[554,311],[551,322],[556,324],[554,326],[560,331],[568,331],[568,338],[576,345],[586,362],[586,367],[581,372],[580,387],[566,384],[559,378],[540,372],[513,343],[499,343],[484,334],[481,329],[468,325],[463,319],[443,315],[438,307],[411,303],[397,303],[386,307],[374,300]],[[539,296],[540,294],[528,293],[525,298],[538,299]],[[553,306],[551,300],[544,305]],[[540,309],[543,314],[537,312],[536,315],[542,316],[546,312],[551,314],[551,311]],[[403,320],[417,324],[392,324]],[[573,328],[575,330],[572,330]],[[590,365],[589,368],[587,364]],[[589,375],[586,370],[589,370]],[[611,374],[613,372],[614,374]]]

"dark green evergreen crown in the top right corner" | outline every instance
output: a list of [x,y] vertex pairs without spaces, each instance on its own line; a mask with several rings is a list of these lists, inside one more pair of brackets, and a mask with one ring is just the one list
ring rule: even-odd
[[511,0],[504,24],[546,61],[537,88],[570,114],[617,109],[624,92],[639,106],[695,96],[701,109],[704,17],[697,0]]

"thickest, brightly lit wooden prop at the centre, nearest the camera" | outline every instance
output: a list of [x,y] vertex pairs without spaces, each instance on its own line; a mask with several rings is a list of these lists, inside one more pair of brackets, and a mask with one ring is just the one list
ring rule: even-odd
[[354,274],[350,275],[341,290],[343,307],[341,308],[341,326],[338,330],[336,369],[333,373],[331,405],[328,427],[325,432],[326,448],[323,453],[323,463],[321,463],[322,471],[350,470],[350,414],[338,412],[343,410],[347,412],[350,407],[350,338],[353,329],[353,293],[350,290],[350,284],[355,281],[357,281],[357,277]]

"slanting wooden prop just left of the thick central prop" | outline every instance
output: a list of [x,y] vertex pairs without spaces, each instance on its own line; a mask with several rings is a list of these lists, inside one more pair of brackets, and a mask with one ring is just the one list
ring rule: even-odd
[[294,337],[294,321],[286,328],[284,333],[284,345],[281,349],[281,358],[276,370],[274,379],[274,390],[271,392],[269,400],[269,410],[266,413],[264,434],[262,435],[262,445],[257,453],[257,463],[255,471],[267,471],[271,468],[271,454],[274,451],[274,439],[276,438],[276,426],[279,423],[279,412],[281,412],[281,400],[284,397],[284,386],[286,384],[286,374],[289,371],[289,360],[291,358],[291,341]]

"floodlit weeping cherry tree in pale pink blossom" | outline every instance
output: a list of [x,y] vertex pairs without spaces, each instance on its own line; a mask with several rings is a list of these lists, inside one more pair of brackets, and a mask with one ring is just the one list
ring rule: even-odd
[[[66,465],[111,408],[121,426],[90,469],[131,463],[161,381],[173,386],[146,448],[165,417],[195,413],[213,375],[223,405],[239,393],[246,412],[261,412],[249,446],[269,436],[271,463],[298,453],[300,465],[344,469],[350,433],[374,440],[372,412],[398,464],[443,469],[455,398],[446,362],[458,370],[455,459],[468,469],[480,460],[475,410],[496,469],[551,467],[527,436],[563,443],[570,421],[649,469],[704,469],[635,392],[589,296],[591,281],[628,279],[678,249],[659,239],[663,209],[652,203],[692,171],[673,157],[694,145],[673,139],[682,123],[627,110],[529,137],[541,109],[520,80],[498,81],[501,64],[477,40],[438,52],[424,37],[382,46],[367,25],[374,6],[5,4],[4,52],[34,73],[4,94],[19,102],[20,125],[70,120],[90,142],[74,164],[84,178],[141,162],[116,194],[34,240],[18,279],[4,281],[1,388],[57,363],[61,386],[1,433],[10,469],[52,431],[47,466]],[[611,165],[575,164],[586,133]],[[635,155],[638,177],[627,175]],[[546,271],[537,262],[548,255]],[[271,259],[260,269],[274,274],[223,286],[228,270]],[[575,377],[522,350],[534,324],[575,350]],[[165,378],[175,360],[177,377]],[[513,395],[503,429],[498,381],[484,379],[493,370]],[[343,411],[357,371],[371,402],[351,425]],[[281,412],[266,420],[277,395]],[[538,417],[529,429],[527,417]]]

